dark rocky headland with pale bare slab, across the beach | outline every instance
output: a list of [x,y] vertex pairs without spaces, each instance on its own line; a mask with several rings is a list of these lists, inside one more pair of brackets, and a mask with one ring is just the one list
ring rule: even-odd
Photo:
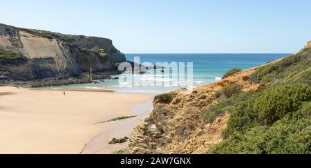
[[119,73],[117,66],[125,61],[110,39],[0,24],[0,84],[85,83],[90,71],[103,79]]

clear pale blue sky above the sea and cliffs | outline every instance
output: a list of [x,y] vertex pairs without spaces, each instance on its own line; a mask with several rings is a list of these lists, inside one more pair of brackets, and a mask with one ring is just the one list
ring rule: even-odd
[[124,53],[295,53],[310,0],[1,0],[0,23],[107,37]]

